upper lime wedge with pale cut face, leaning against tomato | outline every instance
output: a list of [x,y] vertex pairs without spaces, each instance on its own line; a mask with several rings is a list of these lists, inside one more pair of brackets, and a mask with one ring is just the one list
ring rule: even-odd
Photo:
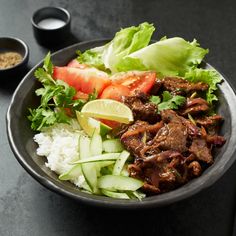
[[81,113],[87,117],[101,118],[128,124],[133,113],[125,104],[111,99],[97,99],[86,103]]

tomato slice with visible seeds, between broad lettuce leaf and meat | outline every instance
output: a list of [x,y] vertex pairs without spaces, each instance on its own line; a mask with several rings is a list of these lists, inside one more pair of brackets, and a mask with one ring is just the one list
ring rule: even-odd
[[132,71],[115,75],[111,79],[113,85],[126,86],[130,90],[131,95],[136,90],[148,93],[155,83],[156,73],[149,71]]

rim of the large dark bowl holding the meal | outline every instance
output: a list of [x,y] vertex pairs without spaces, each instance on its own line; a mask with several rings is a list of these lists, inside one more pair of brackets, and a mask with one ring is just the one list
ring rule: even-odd
[[[57,54],[63,53],[63,51],[67,51],[68,49],[83,47],[83,46],[86,46],[87,44],[96,44],[96,43],[101,44],[101,43],[105,43],[106,41],[107,39],[99,39],[99,40],[91,40],[91,41],[85,41],[82,43],[73,44],[69,47],[66,47],[64,49],[61,49],[53,53],[52,58]],[[236,135],[233,135],[233,134],[236,133],[236,110],[233,108],[236,104],[236,95],[228,79],[226,79],[226,77],[221,72],[219,72],[219,70],[217,70],[224,81],[222,84],[219,85],[219,87],[221,87],[221,89],[225,91],[224,97],[226,101],[228,102],[229,110],[231,111],[231,118],[232,118],[231,124],[230,124],[232,130],[230,133],[230,138],[229,140],[227,140],[228,142],[227,145],[228,146],[231,145],[234,148],[232,149],[226,148],[225,153],[223,154],[224,156],[226,156],[226,159],[223,160],[223,158],[221,158],[217,163],[215,163],[215,165],[213,164],[212,166],[208,167],[207,170],[204,171],[204,173],[206,172],[209,173],[209,176],[205,174],[194,180],[191,180],[187,184],[183,185],[185,186],[184,191],[182,187],[179,187],[167,193],[145,198],[142,201],[111,199],[104,196],[86,194],[86,193],[83,193],[82,191],[78,191],[78,192],[76,191],[75,193],[70,190],[63,189],[62,183],[54,180],[52,177],[46,174],[40,167],[39,169],[41,171],[35,170],[29,163],[27,163],[27,161],[24,159],[24,156],[21,155],[21,153],[18,151],[16,144],[14,143],[14,135],[11,130],[12,116],[14,114],[14,104],[17,103],[17,93],[21,89],[21,86],[24,83],[26,83],[27,78],[29,78],[30,74],[33,73],[33,71],[36,68],[41,66],[42,63],[43,63],[43,60],[41,60],[38,64],[36,64],[27,73],[27,75],[18,85],[17,89],[15,90],[12,96],[12,100],[7,110],[6,122],[7,122],[8,140],[16,159],[34,179],[36,179],[39,183],[41,183],[46,188],[56,193],[59,193],[60,195],[67,196],[77,201],[80,201],[89,205],[93,205],[93,206],[115,208],[115,209],[117,208],[119,209],[141,209],[142,208],[144,209],[144,208],[151,208],[151,207],[159,207],[159,206],[168,205],[168,204],[183,200],[185,198],[188,198],[202,191],[203,189],[211,186],[229,169],[229,167],[235,161],[236,155],[234,154],[235,154],[235,148],[236,148]],[[214,68],[207,63],[206,65],[209,66],[210,68]],[[217,172],[217,173],[215,172],[213,167],[216,165],[218,166],[217,170],[220,170],[220,172]],[[42,173],[43,175],[41,175]]]

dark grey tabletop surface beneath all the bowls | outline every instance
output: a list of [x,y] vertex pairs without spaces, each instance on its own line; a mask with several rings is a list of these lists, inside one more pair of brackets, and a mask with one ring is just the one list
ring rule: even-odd
[[[155,38],[197,38],[210,49],[207,61],[236,88],[236,2],[207,0],[0,0],[0,37],[16,36],[30,48],[29,68],[48,48],[39,46],[30,17],[43,6],[72,15],[72,33],[51,51],[79,41],[112,37],[121,27],[153,22]],[[1,79],[1,78],[0,78]],[[20,78],[18,78],[20,79]],[[45,189],[18,164],[7,141],[5,113],[15,84],[0,83],[0,235],[174,235],[227,236],[233,233],[236,163],[212,187],[173,205],[146,211],[82,206]],[[235,234],[236,235],[236,234]]]

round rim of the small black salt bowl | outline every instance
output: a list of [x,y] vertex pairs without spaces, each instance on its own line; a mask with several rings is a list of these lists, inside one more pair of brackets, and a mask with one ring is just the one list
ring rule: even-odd
[[[46,9],[56,9],[56,10],[60,10],[61,12],[63,12],[66,16],[67,16],[67,19],[65,21],[65,24],[58,27],[58,28],[54,28],[54,29],[47,29],[47,28],[43,28],[43,27],[40,27],[36,22],[35,22],[35,17],[36,15],[41,12],[41,11],[44,11]],[[61,30],[61,29],[64,29],[68,26],[68,24],[70,24],[70,21],[71,21],[71,15],[69,13],[68,10],[66,10],[65,8],[63,7],[53,7],[53,6],[49,6],[49,7],[42,7],[42,8],[39,8],[38,10],[36,10],[32,17],[31,17],[31,24],[33,25],[34,28],[38,29],[38,30],[41,30],[41,31],[45,31],[45,32],[53,32],[53,31],[56,31],[56,30]]]

